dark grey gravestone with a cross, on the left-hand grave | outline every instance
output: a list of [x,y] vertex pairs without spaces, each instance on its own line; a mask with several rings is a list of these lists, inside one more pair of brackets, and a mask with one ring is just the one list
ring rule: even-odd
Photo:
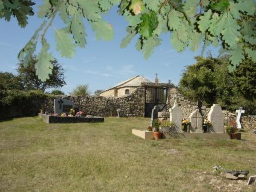
[[54,99],[54,113],[69,113],[70,109],[73,109],[74,102],[67,99]]

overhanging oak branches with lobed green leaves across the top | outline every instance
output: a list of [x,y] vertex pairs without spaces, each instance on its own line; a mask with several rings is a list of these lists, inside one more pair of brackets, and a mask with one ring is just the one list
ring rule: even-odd
[[[25,2],[25,3],[22,3]],[[10,15],[17,17],[19,24],[25,26],[26,17],[33,14],[30,1],[0,1],[0,16],[10,20]],[[71,58],[75,47],[85,47],[86,31],[83,18],[95,31],[97,39],[109,41],[113,39],[113,27],[102,20],[101,14],[107,13],[111,7],[118,5],[119,14],[123,15],[128,24],[127,36],[123,38],[121,47],[129,45],[135,37],[136,49],[149,58],[154,48],[159,46],[163,33],[170,33],[170,42],[181,52],[189,47],[191,51],[205,47],[221,46],[221,52],[228,52],[231,57],[229,70],[233,71],[245,59],[245,56],[256,62],[255,45],[255,1],[254,0],[95,0],[95,1],[55,1],[45,0],[38,8],[38,17],[46,21],[35,31],[30,41],[23,47],[18,59],[27,66],[31,55],[35,53],[38,41],[41,51],[37,54],[38,78],[49,79],[51,74],[50,45],[45,34],[53,27],[53,20],[58,14],[65,26],[55,29],[56,50],[62,57]],[[25,7],[23,9],[23,7]],[[19,14],[15,14],[18,12]],[[22,19],[21,18],[25,18]],[[22,21],[22,22],[20,22]],[[243,47],[247,47],[243,49]]]

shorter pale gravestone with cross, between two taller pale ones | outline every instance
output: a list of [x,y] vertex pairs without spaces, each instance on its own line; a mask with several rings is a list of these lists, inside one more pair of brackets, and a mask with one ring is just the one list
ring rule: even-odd
[[190,121],[190,131],[191,132],[197,132],[197,133],[202,133],[203,129],[203,117],[199,110],[193,111],[190,116],[189,116],[189,121]]

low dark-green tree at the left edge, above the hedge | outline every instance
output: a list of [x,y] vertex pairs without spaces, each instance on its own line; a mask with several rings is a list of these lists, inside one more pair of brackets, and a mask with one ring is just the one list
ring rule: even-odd
[[23,90],[21,79],[12,73],[0,72],[0,89]]

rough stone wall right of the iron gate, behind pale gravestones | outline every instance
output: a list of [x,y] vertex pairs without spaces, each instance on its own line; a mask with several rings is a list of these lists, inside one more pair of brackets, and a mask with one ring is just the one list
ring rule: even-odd
[[[169,111],[170,107],[174,105],[175,96],[178,95],[178,104],[179,107],[183,110],[183,118],[189,119],[189,115],[196,110],[197,103],[191,102],[185,99],[181,93],[177,91],[176,88],[169,89],[169,94],[167,97],[167,111]],[[237,114],[231,113],[228,110],[222,110],[224,114],[225,124],[229,123],[231,120],[237,119]],[[202,110],[203,118],[207,119],[207,115],[210,112],[210,108],[206,108]],[[241,118],[242,127],[244,129],[255,129],[256,128],[256,115],[242,116]]]

